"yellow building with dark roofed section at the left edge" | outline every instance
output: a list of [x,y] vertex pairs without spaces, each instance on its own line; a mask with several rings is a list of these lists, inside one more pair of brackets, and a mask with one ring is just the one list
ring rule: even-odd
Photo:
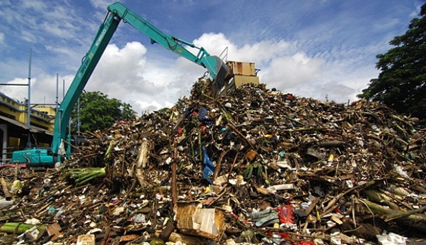
[[38,105],[31,108],[28,129],[27,103],[22,103],[0,92],[0,152],[1,162],[8,162],[12,152],[27,147],[30,135],[32,147],[50,147],[56,110]]

